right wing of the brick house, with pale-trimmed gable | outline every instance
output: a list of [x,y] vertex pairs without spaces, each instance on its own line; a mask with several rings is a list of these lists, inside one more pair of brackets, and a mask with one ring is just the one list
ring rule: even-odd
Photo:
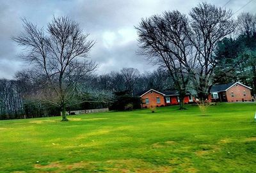
[[248,102],[252,101],[251,87],[240,82],[212,86],[212,102]]

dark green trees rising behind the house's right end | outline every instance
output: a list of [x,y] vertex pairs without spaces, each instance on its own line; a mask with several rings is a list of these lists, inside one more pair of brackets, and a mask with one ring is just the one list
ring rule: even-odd
[[[237,20],[239,35],[225,38],[218,44],[215,73],[216,82],[241,81],[253,87],[256,94],[256,16],[241,13]],[[229,70],[227,72],[227,70]]]

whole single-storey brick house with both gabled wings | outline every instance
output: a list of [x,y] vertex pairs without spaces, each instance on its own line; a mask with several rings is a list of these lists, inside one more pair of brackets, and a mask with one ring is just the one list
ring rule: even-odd
[[[252,101],[252,88],[244,86],[240,82],[220,84],[212,86],[209,100],[211,102],[248,102]],[[179,105],[179,94],[177,91],[156,91],[149,89],[140,94],[143,101],[142,107],[163,107],[168,105]],[[191,94],[186,94],[184,103],[194,103],[195,98]]]

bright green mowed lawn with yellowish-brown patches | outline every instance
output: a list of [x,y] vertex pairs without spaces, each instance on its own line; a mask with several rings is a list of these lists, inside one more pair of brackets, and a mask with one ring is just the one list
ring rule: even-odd
[[256,172],[255,103],[0,121],[0,172]]

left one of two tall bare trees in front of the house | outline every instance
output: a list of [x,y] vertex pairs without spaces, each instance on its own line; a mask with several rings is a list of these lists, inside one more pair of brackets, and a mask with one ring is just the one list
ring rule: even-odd
[[188,18],[179,11],[165,11],[163,15],[143,19],[136,29],[140,54],[170,72],[175,89],[179,91],[180,109],[184,109],[184,97],[197,54],[188,39],[191,33]]

